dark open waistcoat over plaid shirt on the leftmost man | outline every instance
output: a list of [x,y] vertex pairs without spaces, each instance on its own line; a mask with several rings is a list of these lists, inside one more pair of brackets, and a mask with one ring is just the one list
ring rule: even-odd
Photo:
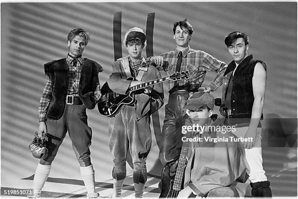
[[[44,72],[53,84],[52,99],[46,115],[47,119],[58,120],[64,112],[69,84],[68,71],[65,58],[44,64]],[[88,58],[83,59],[78,95],[87,109],[95,108],[96,102],[93,94],[99,84],[98,72],[102,71],[101,65],[97,62]]]

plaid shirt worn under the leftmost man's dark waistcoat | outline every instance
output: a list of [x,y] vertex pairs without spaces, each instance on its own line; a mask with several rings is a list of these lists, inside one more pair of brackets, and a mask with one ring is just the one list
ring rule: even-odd
[[[68,89],[67,89],[67,95],[76,95],[78,96],[78,85],[81,77],[81,70],[82,70],[82,63],[83,63],[83,57],[77,58],[77,63],[74,66],[74,58],[69,56],[67,54],[66,62],[69,68],[68,71]],[[44,87],[44,90],[42,92],[38,111],[39,111],[39,122],[45,122],[45,117],[48,111],[48,107],[50,105],[51,99],[52,99],[52,91],[53,91],[53,84],[51,79],[48,77],[48,80],[46,82],[46,85]],[[94,92],[94,99],[95,101],[99,101],[101,96],[100,93],[100,85],[98,84],[96,86],[96,90]],[[66,100],[66,99],[65,99]]]

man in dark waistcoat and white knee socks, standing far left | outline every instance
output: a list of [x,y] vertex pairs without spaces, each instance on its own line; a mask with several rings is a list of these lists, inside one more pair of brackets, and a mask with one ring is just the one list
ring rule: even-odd
[[102,67],[83,58],[82,53],[90,39],[89,34],[77,28],[71,30],[66,58],[44,64],[48,79],[39,103],[39,136],[49,134],[49,154],[40,159],[34,176],[31,198],[39,198],[66,132],[72,141],[80,172],[87,188],[87,198],[97,198],[94,170],[90,159],[92,130],[87,124],[87,109],[94,109],[100,99],[98,72]]

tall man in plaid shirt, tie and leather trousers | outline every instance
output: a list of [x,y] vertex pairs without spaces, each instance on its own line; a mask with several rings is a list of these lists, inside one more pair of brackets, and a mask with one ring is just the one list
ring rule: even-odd
[[[185,121],[185,114],[182,108],[189,97],[189,93],[197,91],[201,87],[207,71],[216,72],[217,75],[204,91],[216,90],[222,84],[223,73],[227,67],[223,61],[214,58],[210,54],[191,49],[189,41],[192,38],[192,32],[192,25],[187,21],[175,22],[173,38],[176,41],[176,50],[147,59],[150,63],[154,62],[156,66],[163,66],[168,75],[186,70],[190,74],[189,80],[177,83],[168,81],[169,97],[168,104],[165,107],[166,115],[160,139],[159,153],[159,159],[163,165],[177,160],[180,155],[182,147],[181,128]],[[168,62],[168,64],[163,64],[164,61]],[[179,67],[181,67],[180,70]],[[174,172],[175,169],[172,169]]]

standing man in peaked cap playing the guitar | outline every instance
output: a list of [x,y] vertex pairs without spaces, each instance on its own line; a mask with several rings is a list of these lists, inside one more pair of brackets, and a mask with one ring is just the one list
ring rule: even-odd
[[[112,91],[127,94],[135,85],[161,78],[160,72],[142,56],[142,50],[146,47],[146,36],[141,28],[131,28],[125,34],[123,44],[129,55],[112,64],[112,74],[108,80]],[[128,77],[134,77],[137,81],[127,80]],[[150,114],[164,104],[163,93],[162,84],[135,93],[136,103],[123,106],[110,120],[109,146],[114,163],[113,198],[121,196],[129,149],[133,163],[135,197],[143,197],[147,181],[146,158],[151,147]]]

